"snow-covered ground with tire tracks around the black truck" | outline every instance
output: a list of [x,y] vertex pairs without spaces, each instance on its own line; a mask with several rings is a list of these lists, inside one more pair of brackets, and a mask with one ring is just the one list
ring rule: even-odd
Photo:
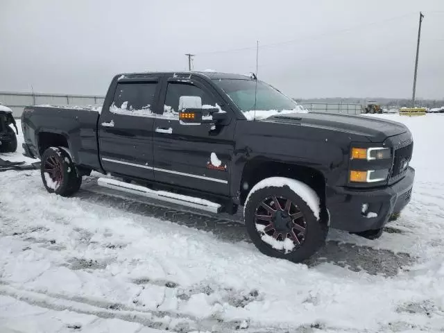
[[413,133],[411,203],[377,241],[331,230],[307,264],[262,255],[226,216],[0,173],[0,332],[443,332],[444,117],[373,117]]

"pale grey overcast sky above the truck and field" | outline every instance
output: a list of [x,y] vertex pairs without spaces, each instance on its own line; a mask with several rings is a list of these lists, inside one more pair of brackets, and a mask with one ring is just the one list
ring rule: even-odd
[[258,76],[296,98],[444,98],[443,0],[0,0],[0,90],[105,94],[114,74]]

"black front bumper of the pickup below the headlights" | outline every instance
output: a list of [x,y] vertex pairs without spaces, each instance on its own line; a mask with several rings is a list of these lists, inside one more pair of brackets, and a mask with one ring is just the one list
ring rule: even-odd
[[[394,213],[400,212],[410,201],[415,169],[409,167],[402,180],[382,189],[327,188],[327,210],[330,212],[330,227],[362,232],[382,228]],[[368,204],[367,217],[362,205]],[[369,216],[373,216],[370,214]]]

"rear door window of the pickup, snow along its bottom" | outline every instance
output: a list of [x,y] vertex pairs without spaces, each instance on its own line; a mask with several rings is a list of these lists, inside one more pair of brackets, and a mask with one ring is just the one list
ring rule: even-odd
[[118,83],[110,112],[138,117],[153,117],[156,82]]

